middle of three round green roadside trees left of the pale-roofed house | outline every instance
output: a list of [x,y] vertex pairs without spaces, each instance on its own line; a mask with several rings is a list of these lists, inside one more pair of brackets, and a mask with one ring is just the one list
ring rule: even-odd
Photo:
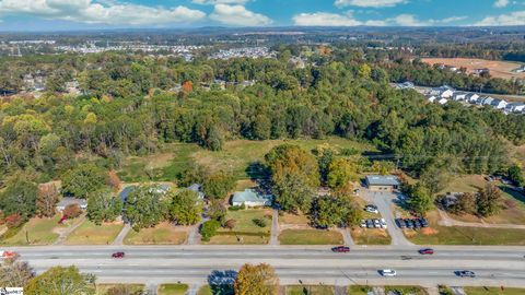
[[124,204],[124,217],[135,231],[153,227],[165,220],[165,196],[158,185],[142,185],[133,189]]

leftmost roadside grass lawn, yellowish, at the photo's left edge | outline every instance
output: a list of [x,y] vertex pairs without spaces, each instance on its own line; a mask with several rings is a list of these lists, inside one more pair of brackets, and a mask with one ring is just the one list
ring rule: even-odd
[[[61,216],[57,214],[51,219],[31,219],[13,236],[10,236],[5,239],[2,238],[0,244],[9,246],[50,245],[58,239],[58,231],[71,226],[77,221],[67,221],[63,225],[60,225],[58,224],[60,217]],[[9,231],[5,232],[5,235],[9,234]],[[27,238],[30,239],[30,243],[27,243]]]

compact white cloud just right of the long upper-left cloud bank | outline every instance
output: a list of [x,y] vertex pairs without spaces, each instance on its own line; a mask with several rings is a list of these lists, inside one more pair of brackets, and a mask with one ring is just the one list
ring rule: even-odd
[[210,19],[228,25],[259,26],[272,21],[266,15],[247,10],[243,5],[217,4]]

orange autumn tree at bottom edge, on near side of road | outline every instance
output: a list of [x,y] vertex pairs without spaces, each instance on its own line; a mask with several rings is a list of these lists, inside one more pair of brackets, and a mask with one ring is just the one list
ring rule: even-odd
[[279,293],[279,279],[269,264],[246,263],[238,271],[234,290],[236,295],[273,295]]

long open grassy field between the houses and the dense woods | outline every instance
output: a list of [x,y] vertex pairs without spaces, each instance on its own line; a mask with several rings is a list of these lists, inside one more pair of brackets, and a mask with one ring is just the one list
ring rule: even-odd
[[241,179],[260,176],[257,163],[273,146],[290,143],[311,151],[320,144],[329,144],[337,150],[352,149],[358,152],[376,151],[373,145],[350,141],[342,138],[325,140],[234,140],[224,144],[220,152],[205,150],[192,143],[166,144],[156,154],[130,156],[124,161],[119,177],[126,182],[173,181],[190,163],[203,165],[210,172],[226,170]]

